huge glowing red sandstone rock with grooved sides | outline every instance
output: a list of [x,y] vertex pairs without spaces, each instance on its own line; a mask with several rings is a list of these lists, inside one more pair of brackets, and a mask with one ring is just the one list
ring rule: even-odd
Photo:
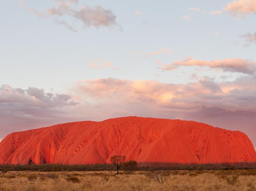
[[239,131],[135,116],[11,133],[0,143],[0,164],[108,164],[113,155],[140,166],[256,162],[252,143]]

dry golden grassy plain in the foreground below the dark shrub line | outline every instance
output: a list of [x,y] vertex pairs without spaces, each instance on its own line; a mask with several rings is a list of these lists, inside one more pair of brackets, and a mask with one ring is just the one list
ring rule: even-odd
[[1,191],[254,191],[256,170],[168,171],[165,182],[150,175],[156,171],[8,171],[0,173]]

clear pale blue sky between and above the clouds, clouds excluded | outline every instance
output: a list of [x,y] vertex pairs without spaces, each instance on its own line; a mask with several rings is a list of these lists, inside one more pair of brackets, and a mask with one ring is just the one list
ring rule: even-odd
[[[186,83],[191,80],[191,68],[162,72],[155,61],[167,64],[187,56],[198,60],[256,60],[255,44],[245,47],[245,40],[240,37],[255,30],[255,15],[242,19],[227,15],[223,8],[228,2],[80,0],[73,6],[101,5],[111,9],[123,31],[106,27],[84,29],[82,22],[76,21],[77,33],[56,25],[50,18],[39,19],[29,10],[58,5],[54,0],[24,0],[25,9],[19,0],[2,2],[0,84],[67,91],[76,81],[106,77]],[[194,7],[202,11],[189,10]],[[215,10],[223,13],[209,15]],[[141,15],[135,16],[135,11]],[[191,20],[182,20],[184,15]],[[143,24],[145,21],[148,23]],[[172,53],[147,58],[131,54],[161,48],[170,48]],[[120,69],[89,68],[94,58],[109,61]]]

